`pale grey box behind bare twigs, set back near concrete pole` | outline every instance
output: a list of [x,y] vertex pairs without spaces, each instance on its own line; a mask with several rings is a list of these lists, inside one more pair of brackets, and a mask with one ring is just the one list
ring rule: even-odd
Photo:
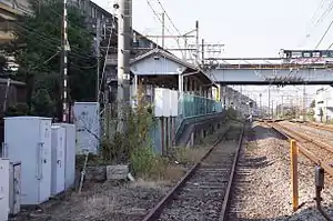
[[75,102],[77,154],[97,154],[100,144],[100,110],[97,102]]

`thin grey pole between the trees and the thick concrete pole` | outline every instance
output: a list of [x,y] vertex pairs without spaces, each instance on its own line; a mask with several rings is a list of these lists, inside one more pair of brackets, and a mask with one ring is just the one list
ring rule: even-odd
[[100,103],[100,57],[101,57],[101,51],[100,51],[100,42],[101,42],[101,20],[98,18],[97,19],[97,24],[95,24],[95,57],[97,57],[97,81],[95,81],[95,96],[97,96],[97,102]]

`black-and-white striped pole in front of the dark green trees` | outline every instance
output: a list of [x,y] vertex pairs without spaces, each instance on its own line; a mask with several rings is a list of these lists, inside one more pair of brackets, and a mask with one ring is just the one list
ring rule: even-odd
[[[70,51],[67,30],[67,0],[63,0],[63,17],[62,17],[62,122],[69,122],[69,102],[68,102],[68,51]],[[60,90],[61,91],[61,90]]]

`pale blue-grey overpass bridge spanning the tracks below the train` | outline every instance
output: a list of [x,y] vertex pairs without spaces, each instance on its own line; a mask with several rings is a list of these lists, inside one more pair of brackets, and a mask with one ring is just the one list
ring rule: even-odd
[[[291,62],[283,58],[206,59],[205,70],[220,84],[333,84],[333,63],[315,59]],[[264,61],[251,63],[251,61]]]

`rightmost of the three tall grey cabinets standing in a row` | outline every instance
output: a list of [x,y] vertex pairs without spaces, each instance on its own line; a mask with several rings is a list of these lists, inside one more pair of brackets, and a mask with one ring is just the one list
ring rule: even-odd
[[65,129],[64,150],[64,189],[73,187],[75,182],[75,125],[70,123],[53,123]]

